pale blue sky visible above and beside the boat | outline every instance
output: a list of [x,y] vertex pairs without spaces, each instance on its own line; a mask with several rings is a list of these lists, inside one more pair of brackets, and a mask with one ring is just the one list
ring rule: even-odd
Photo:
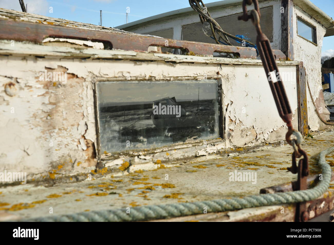
[[[204,4],[217,0],[203,0]],[[334,18],[334,0],[311,0]],[[102,10],[103,26],[115,27],[153,15],[189,7],[188,0],[24,0],[29,13],[99,25]],[[18,0],[0,0],[0,8],[20,10]],[[51,11],[52,10],[52,11]],[[129,12],[128,11],[128,12]],[[323,40],[322,55],[334,56],[334,36]]]

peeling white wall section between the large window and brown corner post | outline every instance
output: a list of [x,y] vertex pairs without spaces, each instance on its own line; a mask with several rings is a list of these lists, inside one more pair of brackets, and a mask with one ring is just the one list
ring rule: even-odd
[[[226,71],[228,71],[226,73]],[[281,67],[295,74],[295,67]],[[285,138],[285,123],[279,117],[262,66],[222,66],[226,145],[251,146]],[[285,81],[285,90],[298,128],[296,77]]]

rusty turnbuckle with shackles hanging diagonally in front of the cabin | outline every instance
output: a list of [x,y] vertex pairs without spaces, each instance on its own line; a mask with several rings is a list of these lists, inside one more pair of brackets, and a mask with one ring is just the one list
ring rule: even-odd
[[[251,10],[250,14],[247,13],[246,5],[251,5],[254,3],[254,9]],[[273,93],[276,107],[280,117],[288,126],[288,132],[286,134],[286,140],[288,144],[292,145],[294,152],[292,154],[292,167],[288,170],[292,173],[298,174],[297,184],[294,186],[294,191],[306,190],[306,178],[309,175],[308,168],[308,157],[306,152],[301,149],[300,144],[302,142],[302,135],[299,131],[292,127],[292,112],[289,104],[287,94],[284,89],[284,84],[282,81],[282,76],[277,67],[276,58],[270,45],[268,37],[262,32],[260,26],[260,8],[258,0],[243,0],[242,2],[243,14],[238,16],[238,20],[248,21],[252,19],[253,24],[257,30],[257,47],[260,53],[260,57],[263,63],[263,67],[268,77],[270,89]],[[277,76],[278,75],[278,76]],[[291,140],[291,135],[296,136],[296,139]],[[298,167],[296,165],[296,158],[304,157],[298,162]],[[296,221],[303,221],[306,219],[303,215],[305,211],[305,203],[298,203],[296,209]]]

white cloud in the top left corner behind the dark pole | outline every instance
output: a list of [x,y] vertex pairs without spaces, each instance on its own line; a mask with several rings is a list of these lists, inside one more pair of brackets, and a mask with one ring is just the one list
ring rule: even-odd
[[[45,15],[49,11],[46,0],[25,0],[24,4],[28,4],[28,13]],[[0,8],[22,11],[19,1],[16,0],[0,0]]]

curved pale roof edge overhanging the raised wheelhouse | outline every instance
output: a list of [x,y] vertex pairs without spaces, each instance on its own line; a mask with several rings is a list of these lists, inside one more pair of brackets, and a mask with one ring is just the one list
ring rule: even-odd
[[[264,2],[268,0],[259,0],[259,2]],[[333,36],[334,35],[334,20],[329,17],[325,12],[323,12],[320,8],[318,8],[316,5],[314,5],[309,0],[293,0],[293,3],[303,9],[306,13],[308,13],[310,16],[312,16],[314,19],[316,19],[319,23],[324,25],[327,28],[327,32],[325,36]],[[237,6],[241,5],[242,0],[225,0],[225,1],[218,1],[213,3],[205,4],[205,6],[210,9],[215,9],[218,7],[230,7],[230,6]],[[140,27],[146,24],[151,24],[155,22],[160,22],[163,20],[169,20],[171,18],[175,18],[177,16],[183,16],[190,12],[195,12],[191,7],[188,8],[182,8],[177,9],[174,11],[150,16],[144,19],[140,19],[137,21],[133,21],[124,25],[116,26],[118,29],[125,29],[125,30],[131,30],[136,27]],[[240,9],[241,12],[241,9]]]

